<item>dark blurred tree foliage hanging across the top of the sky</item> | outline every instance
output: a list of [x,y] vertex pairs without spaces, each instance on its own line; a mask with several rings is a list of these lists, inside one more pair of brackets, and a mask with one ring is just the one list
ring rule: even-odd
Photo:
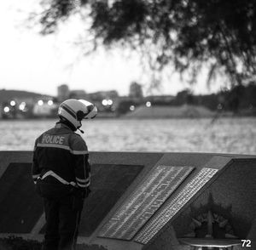
[[139,50],[156,71],[172,65],[195,82],[207,65],[208,82],[224,73],[233,86],[255,74],[255,0],[43,0],[42,7],[44,35],[81,14],[95,49]]

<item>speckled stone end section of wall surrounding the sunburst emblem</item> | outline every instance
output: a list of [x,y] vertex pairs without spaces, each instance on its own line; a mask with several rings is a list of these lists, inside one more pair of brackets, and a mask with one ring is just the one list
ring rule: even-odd
[[[211,165],[209,167],[213,167],[214,162]],[[184,207],[143,249],[167,249],[168,245],[169,249],[187,249],[185,246],[178,245],[172,247],[172,242],[191,233],[192,218],[206,213],[209,209],[212,213],[228,219],[228,224],[232,228],[230,232],[240,239],[252,241],[250,249],[256,249],[255,158],[235,157],[232,159],[230,157],[229,164],[224,167],[223,171],[219,171],[218,177],[213,179],[212,184],[208,185],[194,201],[192,200],[189,206]],[[228,228],[226,227],[225,230]],[[241,249],[241,247],[234,249]]]

